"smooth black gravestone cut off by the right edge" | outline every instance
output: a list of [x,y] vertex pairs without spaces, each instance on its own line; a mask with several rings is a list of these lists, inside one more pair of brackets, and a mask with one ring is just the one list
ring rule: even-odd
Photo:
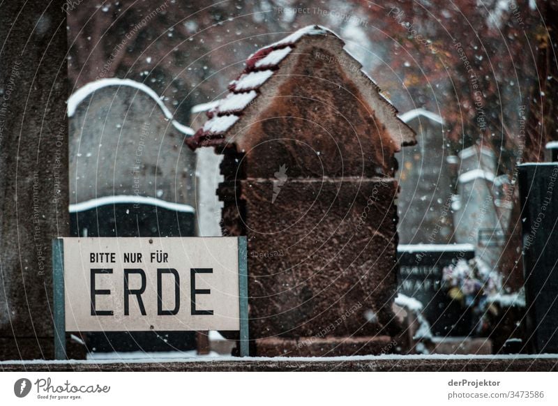
[[558,352],[558,163],[519,167],[529,349]]

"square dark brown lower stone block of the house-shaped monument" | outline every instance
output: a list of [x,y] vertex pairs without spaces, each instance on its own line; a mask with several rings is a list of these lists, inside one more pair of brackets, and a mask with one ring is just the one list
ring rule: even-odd
[[273,204],[273,181],[240,181],[236,198],[220,189],[229,232],[248,236],[252,338],[396,331],[396,188],[393,179],[294,179]]

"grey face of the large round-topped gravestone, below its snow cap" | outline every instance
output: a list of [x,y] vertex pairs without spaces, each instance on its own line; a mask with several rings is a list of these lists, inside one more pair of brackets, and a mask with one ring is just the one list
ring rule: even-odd
[[96,90],[70,117],[70,202],[112,195],[195,206],[195,153],[134,87]]

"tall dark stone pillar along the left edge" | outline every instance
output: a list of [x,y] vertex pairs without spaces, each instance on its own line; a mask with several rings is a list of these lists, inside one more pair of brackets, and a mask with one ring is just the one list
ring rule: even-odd
[[0,13],[0,359],[54,355],[51,241],[69,227],[63,6]]

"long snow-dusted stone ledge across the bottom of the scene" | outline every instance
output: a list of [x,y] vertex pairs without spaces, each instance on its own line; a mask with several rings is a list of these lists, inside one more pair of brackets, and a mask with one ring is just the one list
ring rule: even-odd
[[363,356],[324,359],[232,359],[161,362],[2,361],[4,372],[535,372],[558,371],[558,354],[544,356]]

